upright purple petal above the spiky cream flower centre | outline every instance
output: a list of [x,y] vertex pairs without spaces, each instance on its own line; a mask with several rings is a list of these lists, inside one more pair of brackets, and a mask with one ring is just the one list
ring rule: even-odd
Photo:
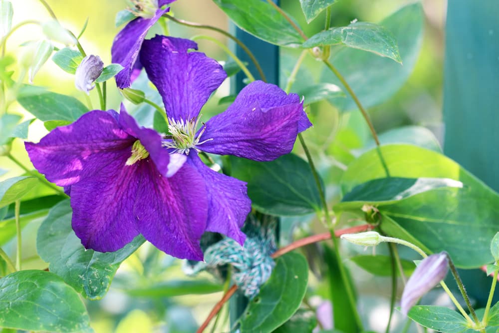
[[213,91],[225,80],[222,66],[201,52],[192,40],[157,35],[144,41],[140,62],[163,97],[168,117],[198,116]]

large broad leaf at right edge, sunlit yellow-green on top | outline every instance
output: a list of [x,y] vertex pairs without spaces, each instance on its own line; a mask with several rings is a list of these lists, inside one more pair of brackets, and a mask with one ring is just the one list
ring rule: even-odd
[[393,222],[383,221],[383,231],[408,241],[416,239],[431,252],[445,250],[461,268],[477,268],[493,261],[490,241],[498,230],[499,196],[442,154],[403,144],[373,149],[350,163],[341,179],[343,192],[386,177],[379,153],[391,177],[448,178],[464,184],[463,188],[442,187],[380,205],[380,212]]

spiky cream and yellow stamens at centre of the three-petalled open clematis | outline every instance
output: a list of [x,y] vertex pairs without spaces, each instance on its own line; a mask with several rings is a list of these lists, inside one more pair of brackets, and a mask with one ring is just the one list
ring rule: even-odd
[[213,139],[208,139],[203,142],[200,142],[200,138],[203,135],[203,132],[206,129],[206,125],[203,124],[203,129],[196,136],[196,128],[198,127],[199,118],[192,118],[190,120],[175,120],[172,118],[168,119],[168,130],[171,133],[171,136],[167,136],[168,139],[163,142],[163,146],[171,149],[175,149],[175,153],[186,154],[189,155],[189,152],[192,148],[196,146],[202,145],[206,141],[210,141]]

